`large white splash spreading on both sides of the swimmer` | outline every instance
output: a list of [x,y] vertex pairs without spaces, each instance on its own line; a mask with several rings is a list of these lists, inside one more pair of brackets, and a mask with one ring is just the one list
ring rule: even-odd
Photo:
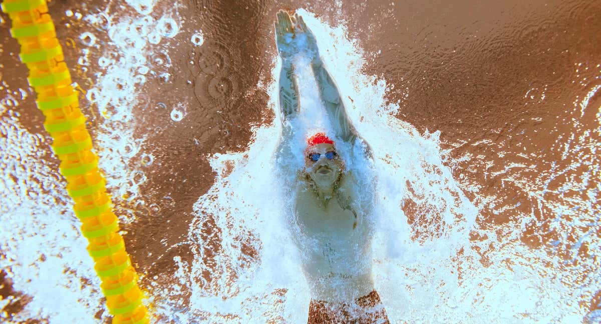
[[[350,118],[374,151],[374,217],[380,224],[374,278],[392,322],[581,320],[585,312],[566,302],[573,298],[573,287],[554,280],[544,251],[530,250],[518,239],[499,242],[495,232],[475,228],[478,209],[446,166],[451,161],[443,158],[439,132],[419,134],[392,117],[398,104],[384,100],[384,80],[362,74],[362,52],[347,39],[344,26],[332,28],[305,10],[298,13],[316,34]],[[274,65],[272,77],[278,80],[279,62]],[[173,319],[307,320],[308,287],[286,221],[290,197],[281,190],[274,162],[281,133],[275,82],[268,89],[276,121],[254,128],[247,151],[210,158],[218,176],[195,205],[197,217],[189,232],[195,259],[180,262],[177,274],[191,287],[191,301]],[[402,209],[406,203],[421,210],[411,225]],[[471,232],[489,239],[472,242]],[[518,236],[519,229],[514,232]],[[483,266],[476,250],[490,244],[498,253],[487,256],[489,264]],[[163,308],[165,315],[173,310]]]

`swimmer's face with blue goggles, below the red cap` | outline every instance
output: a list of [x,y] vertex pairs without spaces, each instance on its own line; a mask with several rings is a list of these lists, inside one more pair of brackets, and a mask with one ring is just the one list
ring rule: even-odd
[[[317,158],[317,154],[319,154],[319,158]],[[329,160],[328,156],[332,159]],[[314,161],[316,158],[317,161]],[[334,145],[322,143],[310,146],[305,150],[305,171],[319,187],[333,185],[342,169],[343,161]]]

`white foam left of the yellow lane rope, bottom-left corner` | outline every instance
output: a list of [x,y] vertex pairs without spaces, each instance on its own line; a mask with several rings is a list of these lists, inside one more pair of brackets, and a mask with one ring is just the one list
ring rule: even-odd
[[[13,290],[25,295],[25,308],[10,320],[0,314],[0,322],[89,323],[100,310],[106,317],[72,200],[55,170],[40,163],[50,147],[18,118],[10,110],[0,119],[0,269]],[[11,302],[14,296],[0,307]]]

